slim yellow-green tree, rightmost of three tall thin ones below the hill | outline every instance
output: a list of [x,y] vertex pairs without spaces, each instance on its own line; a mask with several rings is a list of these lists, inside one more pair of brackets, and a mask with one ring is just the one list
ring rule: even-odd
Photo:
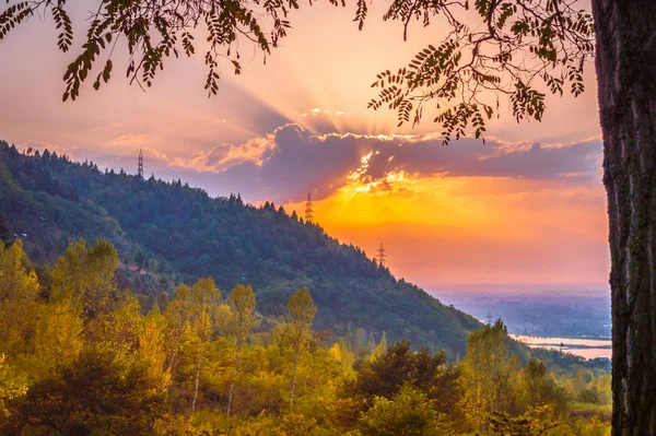
[[296,291],[288,303],[288,320],[291,327],[291,340],[294,349],[294,375],[292,377],[292,389],[290,392],[290,409],[294,408],[294,392],[296,390],[296,378],[298,376],[298,358],[305,346],[317,308],[307,287]]

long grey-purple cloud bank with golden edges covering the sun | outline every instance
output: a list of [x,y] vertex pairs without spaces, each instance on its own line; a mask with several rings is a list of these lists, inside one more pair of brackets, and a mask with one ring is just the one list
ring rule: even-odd
[[[361,182],[377,181],[376,190],[388,190],[390,182],[385,176],[400,170],[412,177],[593,179],[599,175],[601,156],[599,140],[564,145],[488,140],[483,145],[481,141],[464,139],[444,146],[433,135],[315,135],[297,125],[276,129],[266,141],[265,145],[254,146],[250,141],[241,145],[250,146],[253,152],[231,165],[208,170],[238,148],[214,146],[195,155],[187,169],[176,168],[176,173],[196,169],[191,181],[212,195],[238,191],[248,201],[288,202],[298,201],[307,192],[325,198],[344,186],[349,175]],[[370,153],[363,164],[362,157]]]

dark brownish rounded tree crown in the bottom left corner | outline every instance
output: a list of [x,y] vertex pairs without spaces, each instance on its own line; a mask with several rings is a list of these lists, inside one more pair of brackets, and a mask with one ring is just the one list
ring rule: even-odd
[[[4,434],[144,435],[165,413],[165,398],[142,363],[87,350],[61,375],[33,385]],[[101,432],[101,433],[98,433]]]

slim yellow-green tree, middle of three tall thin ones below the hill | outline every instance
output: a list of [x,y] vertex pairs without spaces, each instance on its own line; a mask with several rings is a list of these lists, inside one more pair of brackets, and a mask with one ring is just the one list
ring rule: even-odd
[[239,357],[242,356],[242,349],[244,342],[250,333],[253,327],[253,319],[255,315],[255,294],[250,285],[244,286],[242,284],[236,285],[227,297],[227,303],[232,306],[235,319],[235,360],[233,366],[233,376],[230,384],[230,392],[227,396],[227,416],[230,416],[233,393],[235,389],[235,382],[237,381],[237,375],[239,372]]

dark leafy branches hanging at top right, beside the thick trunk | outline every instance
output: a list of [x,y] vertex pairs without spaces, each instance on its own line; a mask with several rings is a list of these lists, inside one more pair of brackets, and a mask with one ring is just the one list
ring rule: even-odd
[[[444,38],[429,45],[396,73],[377,75],[379,90],[368,107],[396,110],[398,126],[420,122],[426,104],[437,109],[444,143],[499,115],[499,97],[513,115],[541,120],[547,92],[578,96],[584,91],[586,59],[594,55],[593,16],[575,0],[395,0],[384,20],[400,21],[403,37],[412,21],[446,24]],[[476,21],[472,23],[472,16]],[[491,98],[492,97],[492,98]]]

